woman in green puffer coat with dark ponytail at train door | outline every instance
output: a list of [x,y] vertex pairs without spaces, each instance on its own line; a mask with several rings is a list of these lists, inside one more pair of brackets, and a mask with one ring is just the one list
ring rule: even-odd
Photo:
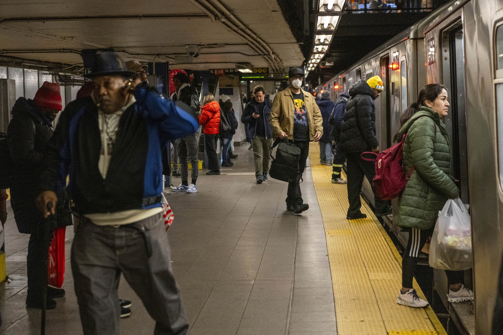
[[[459,197],[459,190],[450,174],[451,142],[440,120],[448,115],[447,90],[440,84],[428,84],[419,93],[417,102],[404,112],[403,165],[407,172],[414,168],[399,200],[398,226],[409,231],[402,259],[402,288],[397,303],[409,307],[427,307],[428,302],[417,296],[412,277],[419,252],[432,236],[439,210],[447,199]],[[473,292],[461,284],[463,271],[446,271],[449,282],[448,300],[473,300]]]

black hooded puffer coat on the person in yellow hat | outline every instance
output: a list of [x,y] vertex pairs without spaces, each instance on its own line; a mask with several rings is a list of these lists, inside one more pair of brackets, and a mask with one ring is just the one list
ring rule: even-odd
[[370,151],[379,146],[372,89],[362,79],[350,87],[349,95],[341,127],[341,149],[344,153]]

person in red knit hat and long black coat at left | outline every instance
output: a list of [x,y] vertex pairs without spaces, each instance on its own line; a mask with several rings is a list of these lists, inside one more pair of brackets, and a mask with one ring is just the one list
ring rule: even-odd
[[[12,108],[12,120],[7,131],[9,151],[13,168],[11,185],[11,205],[18,230],[30,234],[28,256],[28,292],[26,305],[42,308],[44,283],[47,276],[44,266],[49,240],[44,239],[44,228],[52,231],[71,225],[71,213],[65,206],[66,189],[58,194],[61,201],[56,205],[56,214],[51,217],[51,227],[46,227],[44,217],[35,205],[38,194],[37,184],[43,169],[44,149],[52,137],[52,121],[61,110],[59,84],[44,82],[35,94],[35,98],[20,97]],[[63,289],[47,289],[47,309],[55,308],[52,298],[64,296]]]

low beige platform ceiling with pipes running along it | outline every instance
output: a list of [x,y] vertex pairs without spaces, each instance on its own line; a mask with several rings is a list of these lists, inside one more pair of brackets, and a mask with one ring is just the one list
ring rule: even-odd
[[[266,46],[253,46],[229,25]],[[186,44],[201,46],[192,63],[176,57],[187,55]],[[77,64],[76,52],[96,48],[145,62],[160,55],[156,61],[194,70],[271,62],[288,69],[304,60],[276,0],[0,1],[0,55]]]

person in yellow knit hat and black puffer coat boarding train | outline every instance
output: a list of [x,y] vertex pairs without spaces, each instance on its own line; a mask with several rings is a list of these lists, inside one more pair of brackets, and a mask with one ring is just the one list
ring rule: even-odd
[[[348,201],[347,219],[365,218],[360,211],[362,206],[360,190],[363,177],[366,176],[372,185],[375,176],[374,163],[360,157],[364,151],[379,153],[379,141],[376,137],[376,111],[374,101],[384,89],[379,76],[365,82],[360,80],[349,89],[350,99],[346,104],[346,113],[341,127],[341,149],[346,154],[348,167]],[[391,214],[387,201],[379,199],[375,193],[376,216]]]

